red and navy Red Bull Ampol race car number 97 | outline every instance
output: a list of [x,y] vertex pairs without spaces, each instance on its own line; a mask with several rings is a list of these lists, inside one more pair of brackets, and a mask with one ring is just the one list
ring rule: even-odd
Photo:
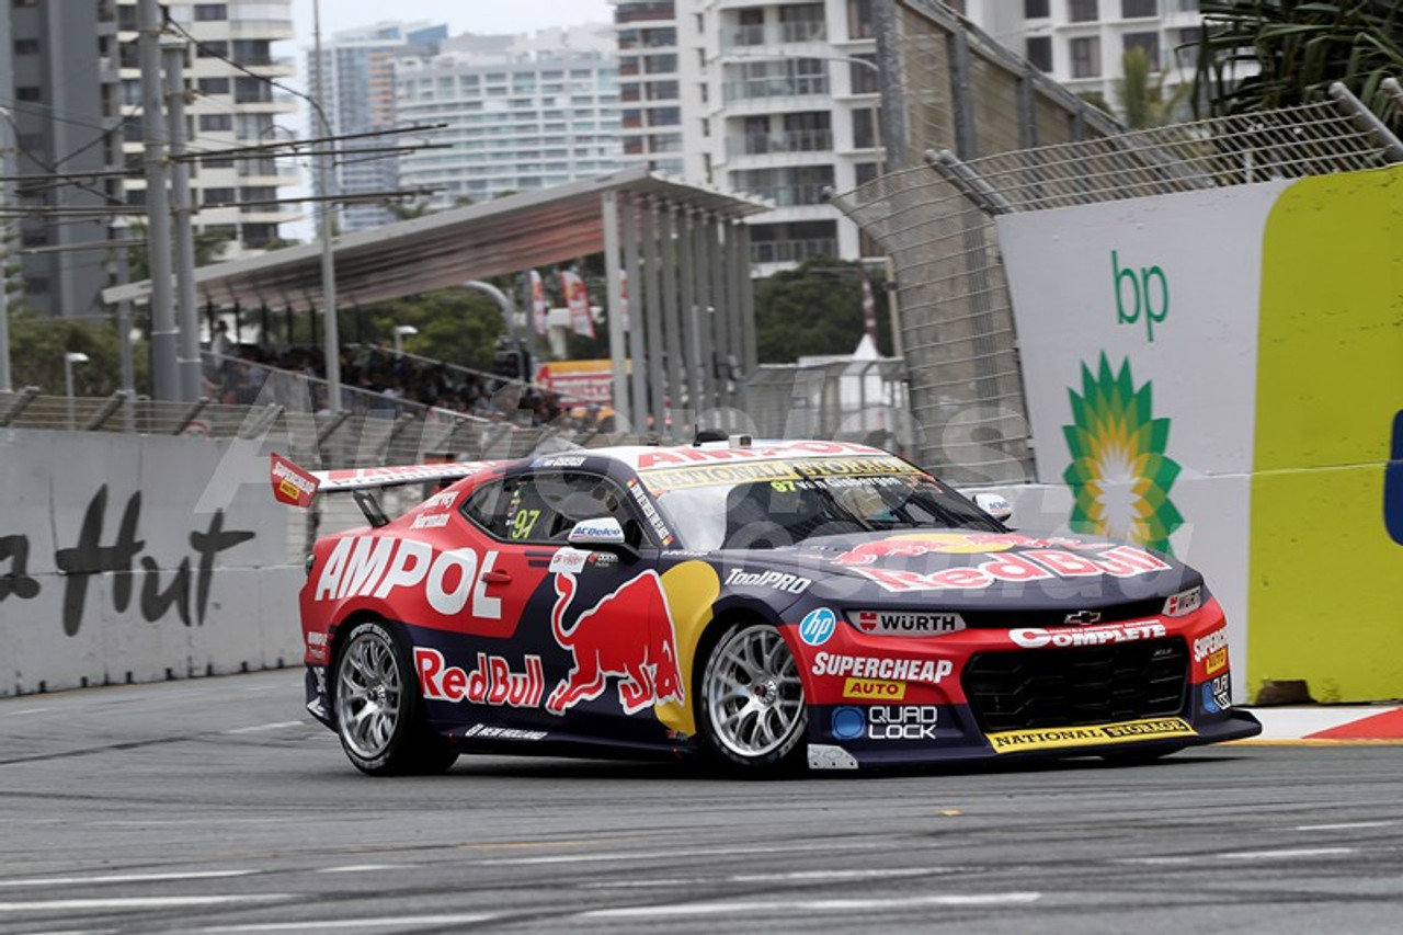
[[[387,519],[372,489],[428,486]],[[307,708],[368,774],[460,752],[700,754],[738,771],[1153,758],[1249,737],[1202,577],[1013,532],[842,442],[578,449],[304,472]]]

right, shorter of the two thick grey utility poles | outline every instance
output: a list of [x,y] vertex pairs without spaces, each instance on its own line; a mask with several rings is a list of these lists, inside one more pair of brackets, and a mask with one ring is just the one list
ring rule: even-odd
[[184,39],[161,44],[166,63],[166,102],[171,140],[171,215],[175,218],[175,320],[180,327],[180,396],[194,403],[202,396],[199,368],[199,314],[195,310],[195,229],[189,204],[189,163],[185,154],[185,51]]

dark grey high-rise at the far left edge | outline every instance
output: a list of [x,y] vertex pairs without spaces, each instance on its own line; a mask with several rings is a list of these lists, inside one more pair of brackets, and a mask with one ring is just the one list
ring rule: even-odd
[[[104,314],[104,211],[122,204],[122,180],[111,174],[122,164],[119,121],[109,0],[0,7],[0,175],[21,177],[0,181],[10,208],[0,248],[29,251],[18,275],[35,312]],[[14,218],[17,205],[29,211]]]

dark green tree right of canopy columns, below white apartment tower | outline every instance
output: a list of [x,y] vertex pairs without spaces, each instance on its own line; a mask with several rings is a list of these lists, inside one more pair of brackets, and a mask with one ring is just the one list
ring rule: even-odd
[[[762,364],[800,357],[852,354],[863,337],[861,265],[817,257],[794,270],[755,281],[756,347]],[[877,345],[891,352],[885,277],[871,272],[877,302]]]

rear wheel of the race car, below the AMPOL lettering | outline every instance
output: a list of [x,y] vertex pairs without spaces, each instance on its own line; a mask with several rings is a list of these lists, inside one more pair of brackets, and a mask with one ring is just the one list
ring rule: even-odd
[[445,772],[457,760],[431,731],[404,642],[383,621],[362,621],[334,667],[333,706],[341,748],[372,776]]

